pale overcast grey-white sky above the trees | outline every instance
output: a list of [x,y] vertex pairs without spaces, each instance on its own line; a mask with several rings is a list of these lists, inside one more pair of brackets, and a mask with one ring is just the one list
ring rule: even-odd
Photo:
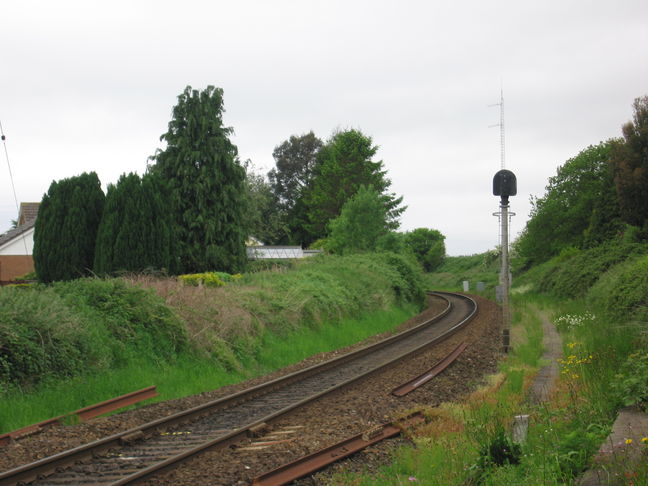
[[4,1],[0,122],[18,201],[40,201],[84,171],[142,174],[177,96],[211,84],[241,160],[265,173],[290,135],[358,128],[404,196],[401,229],[472,254],[498,244],[500,87],[515,235],[559,165],[621,135],[646,46],[646,0]]

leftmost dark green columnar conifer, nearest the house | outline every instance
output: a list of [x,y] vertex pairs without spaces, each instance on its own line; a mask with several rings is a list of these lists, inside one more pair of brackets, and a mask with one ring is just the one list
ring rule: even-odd
[[88,275],[104,199],[94,172],[52,182],[41,201],[34,230],[34,267],[39,280]]

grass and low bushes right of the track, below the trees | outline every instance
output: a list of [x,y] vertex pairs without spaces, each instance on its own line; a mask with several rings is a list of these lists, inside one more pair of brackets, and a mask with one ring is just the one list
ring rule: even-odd
[[[400,450],[381,473],[342,475],[334,483],[574,484],[617,410],[648,407],[647,253],[645,245],[623,242],[574,250],[516,279],[513,352],[491,385],[464,403],[429,410],[433,420],[413,437],[417,447]],[[559,328],[565,357],[551,401],[532,406],[525,389],[546,364],[540,359],[543,312]],[[519,414],[530,415],[521,445],[511,438]],[[622,452],[609,468],[624,484],[648,485],[648,438],[629,446],[640,448],[643,463],[629,466]]]

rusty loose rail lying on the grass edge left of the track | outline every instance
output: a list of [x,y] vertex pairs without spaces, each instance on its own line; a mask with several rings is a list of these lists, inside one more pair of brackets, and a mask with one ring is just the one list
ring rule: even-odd
[[90,405],[88,407],[75,410],[74,412],[65,415],[60,415],[58,417],[54,417],[51,419],[43,420],[42,422],[27,425],[26,427],[22,427],[20,429],[13,430],[11,432],[7,432],[6,434],[0,435],[0,446],[6,446],[10,444],[11,441],[13,440],[17,440],[22,437],[26,437],[28,435],[36,434],[52,425],[60,425],[70,417],[76,416],[81,422],[85,422],[86,420],[90,420],[91,418],[98,417],[99,415],[103,415],[109,412],[114,412],[115,410],[119,410],[120,408],[127,407],[129,405],[133,405],[135,403],[139,403],[141,401],[148,400],[149,398],[153,398],[156,396],[157,396],[157,391],[155,385],[153,385],[147,388],[143,388],[141,390],[127,393],[126,395],[121,395],[119,397],[111,398],[101,403],[96,403],[94,405]]

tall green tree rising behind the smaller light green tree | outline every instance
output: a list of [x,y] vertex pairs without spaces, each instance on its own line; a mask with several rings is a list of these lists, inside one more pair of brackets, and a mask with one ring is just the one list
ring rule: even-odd
[[371,137],[354,129],[335,133],[320,149],[311,185],[304,195],[312,239],[326,235],[329,222],[340,215],[362,185],[380,194],[388,227],[398,227],[398,217],[406,208],[401,206],[402,197],[387,192],[391,181],[382,161],[373,160],[377,151]]

